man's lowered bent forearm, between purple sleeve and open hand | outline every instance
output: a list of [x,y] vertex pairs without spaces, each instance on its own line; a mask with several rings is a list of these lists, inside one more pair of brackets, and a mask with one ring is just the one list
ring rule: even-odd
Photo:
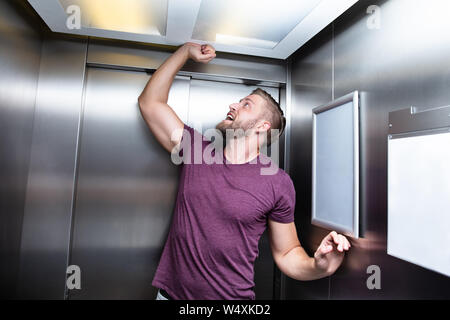
[[315,259],[308,256],[301,246],[286,253],[278,265],[288,277],[301,281],[316,280],[329,275],[326,270],[316,266]]

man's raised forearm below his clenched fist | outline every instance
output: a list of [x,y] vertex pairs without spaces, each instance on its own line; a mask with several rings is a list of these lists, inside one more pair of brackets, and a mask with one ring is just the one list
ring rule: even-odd
[[181,46],[155,71],[142,91],[139,101],[167,103],[169,90],[178,71],[189,59],[187,46]]

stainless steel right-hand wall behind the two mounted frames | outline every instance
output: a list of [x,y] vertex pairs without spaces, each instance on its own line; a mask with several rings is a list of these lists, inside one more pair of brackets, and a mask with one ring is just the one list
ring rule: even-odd
[[[369,29],[367,8],[381,9]],[[286,279],[288,299],[450,298],[450,278],[387,255],[387,134],[390,111],[450,104],[450,20],[445,0],[359,1],[291,58],[289,166],[297,191],[300,240],[313,254],[324,230],[311,219],[311,110],[361,91],[361,218],[363,238],[331,277]],[[418,235],[420,236],[420,235]],[[369,290],[369,265],[381,289]]]

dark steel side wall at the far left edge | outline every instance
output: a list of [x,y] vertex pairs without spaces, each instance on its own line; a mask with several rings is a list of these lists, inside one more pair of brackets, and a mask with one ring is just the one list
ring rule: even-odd
[[40,23],[17,4],[0,2],[0,297],[13,298],[19,268],[34,102],[41,56]]

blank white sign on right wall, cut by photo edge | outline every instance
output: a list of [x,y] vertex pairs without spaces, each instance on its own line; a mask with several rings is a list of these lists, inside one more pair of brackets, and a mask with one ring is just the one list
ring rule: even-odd
[[389,255],[450,276],[450,132],[388,140]]

